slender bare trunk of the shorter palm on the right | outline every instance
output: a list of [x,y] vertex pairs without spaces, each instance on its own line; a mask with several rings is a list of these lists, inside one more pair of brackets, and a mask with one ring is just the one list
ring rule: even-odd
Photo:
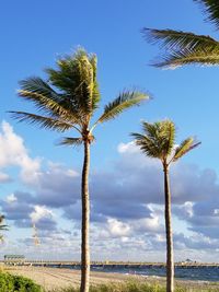
[[166,235],[166,292],[174,291],[174,260],[173,260],[173,235],[171,226],[171,191],[169,184],[169,168],[163,167],[164,192],[165,192],[165,235]]

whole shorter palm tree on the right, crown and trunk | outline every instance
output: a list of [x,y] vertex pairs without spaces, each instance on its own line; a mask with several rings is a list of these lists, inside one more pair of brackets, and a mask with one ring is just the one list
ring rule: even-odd
[[175,147],[175,125],[171,120],[149,124],[142,121],[143,133],[131,133],[135,142],[141,151],[149,157],[159,159],[164,172],[164,201],[165,201],[165,235],[166,235],[166,292],[174,291],[174,259],[173,238],[171,224],[171,190],[169,184],[169,167],[172,162],[176,162],[198,143],[192,137],[185,139]]

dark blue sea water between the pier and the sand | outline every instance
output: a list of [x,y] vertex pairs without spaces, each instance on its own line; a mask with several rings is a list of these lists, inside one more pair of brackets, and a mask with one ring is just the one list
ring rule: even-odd
[[[56,267],[56,266],[53,266]],[[60,266],[57,266],[60,268]],[[61,268],[79,269],[79,266],[64,265]],[[130,276],[142,276],[142,277],[165,277],[165,267],[163,266],[91,266],[93,271],[102,272],[119,272]],[[210,281],[219,282],[219,266],[184,266],[175,267],[175,278],[178,280],[193,280],[193,281]]]

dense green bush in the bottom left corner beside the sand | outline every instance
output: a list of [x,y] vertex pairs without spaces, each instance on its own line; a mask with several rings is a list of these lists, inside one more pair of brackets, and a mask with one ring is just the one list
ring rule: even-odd
[[0,292],[41,292],[42,288],[32,280],[0,272]]

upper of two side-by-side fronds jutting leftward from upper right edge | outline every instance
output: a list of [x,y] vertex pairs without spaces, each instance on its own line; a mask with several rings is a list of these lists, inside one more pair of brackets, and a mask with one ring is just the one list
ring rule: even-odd
[[142,34],[149,43],[160,43],[164,48],[174,50],[181,48],[197,50],[207,47],[212,49],[219,46],[219,43],[210,36],[195,35],[182,31],[143,28]]

